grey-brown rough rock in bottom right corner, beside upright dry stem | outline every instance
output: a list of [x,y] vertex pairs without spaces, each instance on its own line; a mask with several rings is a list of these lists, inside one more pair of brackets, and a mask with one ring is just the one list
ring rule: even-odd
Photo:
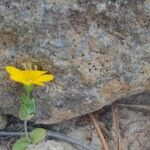
[[[150,147],[150,113],[135,108],[120,108],[120,123],[124,149],[147,150]],[[113,130],[113,129],[112,129]],[[114,132],[114,131],[113,131]]]

